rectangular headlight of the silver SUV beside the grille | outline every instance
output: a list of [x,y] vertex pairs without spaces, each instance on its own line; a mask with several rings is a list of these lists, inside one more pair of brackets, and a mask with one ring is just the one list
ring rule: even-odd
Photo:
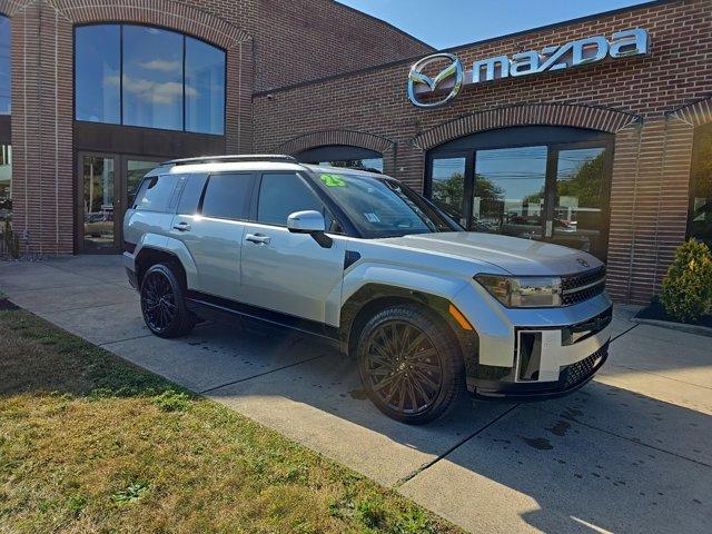
[[507,308],[561,306],[558,277],[477,275],[475,280]]

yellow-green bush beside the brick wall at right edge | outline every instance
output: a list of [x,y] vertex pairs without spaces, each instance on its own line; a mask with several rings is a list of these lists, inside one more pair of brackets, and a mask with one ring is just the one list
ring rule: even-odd
[[690,239],[675,253],[663,279],[661,300],[665,312],[688,323],[712,308],[712,254],[704,243]]

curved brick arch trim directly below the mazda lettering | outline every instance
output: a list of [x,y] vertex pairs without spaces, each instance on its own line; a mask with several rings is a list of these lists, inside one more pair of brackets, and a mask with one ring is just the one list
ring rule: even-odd
[[411,139],[412,146],[429,150],[478,131],[512,126],[568,126],[615,134],[642,122],[642,117],[610,108],[567,103],[522,103],[487,109],[442,122]]

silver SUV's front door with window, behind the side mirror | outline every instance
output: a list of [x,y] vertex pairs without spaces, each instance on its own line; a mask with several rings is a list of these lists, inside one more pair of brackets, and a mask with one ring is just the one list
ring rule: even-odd
[[328,317],[338,317],[346,247],[335,238],[330,248],[323,248],[312,236],[287,230],[289,214],[307,209],[330,220],[298,174],[261,175],[253,209],[256,220],[245,225],[243,239],[243,300],[307,322],[335,323]]

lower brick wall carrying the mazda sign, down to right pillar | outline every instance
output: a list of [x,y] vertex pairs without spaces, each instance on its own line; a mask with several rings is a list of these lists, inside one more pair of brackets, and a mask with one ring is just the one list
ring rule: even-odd
[[[455,53],[468,65],[636,27],[650,32],[647,56],[466,86],[451,105],[434,110],[407,100],[411,61],[259,92],[255,148],[275,150],[315,130],[382,136],[394,141],[397,152],[390,172],[419,188],[424,149],[482,129],[545,123],[615,132],[610,290],[617,300],[644,303],[685,235],[692,129],[665,112],[712,92],[712,0],[646,4],[461,47]],[[548,113],[552,106],[560,108]],[[482,119],[487,113],[504,118]]]

